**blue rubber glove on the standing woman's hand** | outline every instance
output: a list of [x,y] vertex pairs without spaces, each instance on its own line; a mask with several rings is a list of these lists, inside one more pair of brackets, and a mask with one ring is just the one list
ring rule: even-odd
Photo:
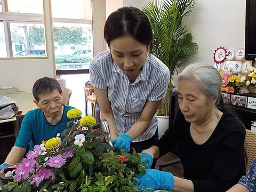
[[115,138],[112,140],[112,143],[114,145],[113,150],[118,151],[124,148],[124,151],[126,153],[129,153],[131,142],[132,142],[132,138],[130,137],[130,135],[123,133],[118,138]]

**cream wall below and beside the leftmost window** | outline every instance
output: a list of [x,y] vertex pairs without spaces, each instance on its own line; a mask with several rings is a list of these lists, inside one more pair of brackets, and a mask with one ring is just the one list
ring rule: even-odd
[[[45,6],[49,7],[50,1],[44,1]],[[18,91],[32,90],[36,79],[40,77],[55,76],[55,60],[53,58],[54,49],[52,49],[52,29],[49,9],[46,10],[45,18],[45,36],[47,45],[47,58],[44,59],[1,59],[0,60],[0,87],[12,86]],[[53,51],[51,51],[53,50]]]

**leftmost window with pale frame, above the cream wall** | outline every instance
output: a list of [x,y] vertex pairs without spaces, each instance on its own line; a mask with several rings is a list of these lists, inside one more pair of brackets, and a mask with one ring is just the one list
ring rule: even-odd
[[2,0],[0,7],[0,57],[46,57],[43,1]]

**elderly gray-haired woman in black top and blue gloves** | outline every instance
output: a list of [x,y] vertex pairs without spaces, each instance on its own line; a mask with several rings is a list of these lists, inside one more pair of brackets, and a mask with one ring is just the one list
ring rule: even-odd
[[163,137],[142,152],[158,158],[178,143],[184,177],[148,169],[146,174],[137,175],[141,189],[221,192],[245,174],[245,129],[223,110],[221,82],[217,69],[198,63],[179,74],[178,114]]

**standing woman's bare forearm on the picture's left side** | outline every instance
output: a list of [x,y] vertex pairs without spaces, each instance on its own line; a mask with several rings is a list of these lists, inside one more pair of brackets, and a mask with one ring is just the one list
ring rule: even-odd
[[100,107],[101,119],[108,121],[111,139],[115,139],[117,137],[116,123],[111,103],[108,100],[107,90],[100,90],[94,87],[94,92]]

